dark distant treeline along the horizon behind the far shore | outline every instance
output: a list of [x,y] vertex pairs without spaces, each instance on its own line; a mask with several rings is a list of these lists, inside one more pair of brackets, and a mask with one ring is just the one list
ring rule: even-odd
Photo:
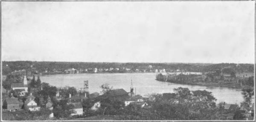
[[[151,65],[151,66],[149,66]],[[64,71],[68,68],[86,69],[86,68],[129,68],[131,71],[165,69],[167,72],[190,71],[190,72],[208,72],[225,67],[233,68],[236,72],[253,72],[253,64],[235,64],[235,63],[118,63],[118,62],[36,62],[36,61],[3,61],[3,75],[12,71],[26,69],[31,72]]]

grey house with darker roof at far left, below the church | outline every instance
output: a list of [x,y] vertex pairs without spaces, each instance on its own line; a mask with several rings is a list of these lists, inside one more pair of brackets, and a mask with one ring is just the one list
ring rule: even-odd
[[6,98],[3,101],[3,109],[6,109],[8,111],[16,111],[20,108],[20,101],[17,98]]

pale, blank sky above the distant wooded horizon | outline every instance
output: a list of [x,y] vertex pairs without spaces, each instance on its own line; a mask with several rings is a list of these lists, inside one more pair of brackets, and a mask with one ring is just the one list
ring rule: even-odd
[[254,63],[254,4],[2,1],[2,60]]

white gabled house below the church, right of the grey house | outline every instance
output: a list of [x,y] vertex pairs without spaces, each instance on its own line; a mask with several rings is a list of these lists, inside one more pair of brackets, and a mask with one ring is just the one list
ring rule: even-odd
[[24,108],[27,111],[39,111],[40,107],[37,105],[37,103],[34,101],[35,96],[32,96],[30,94],[27,96],[27,100],[24,102]]

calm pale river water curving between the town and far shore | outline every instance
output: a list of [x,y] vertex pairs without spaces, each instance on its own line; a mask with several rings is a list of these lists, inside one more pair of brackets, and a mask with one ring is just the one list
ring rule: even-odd
[[146,96],[152,93],[174,92],[173,88],[183,87],[189,90],[207,90],[211,91],[218,102],[230,104],[239,104],[243,101],[240,89],[230,89],[222,87],[209,88],[198,85],[182,85],[169,82],[159,82],[155,80],[156,73],[125,73],[125,74],[57,74],[42,76],[41,81],[47,82],[56,87],[73,86],[83,88],[83,81],[89,81],[90,93],[99,92],[100,85],[108,83],[113,88],[123,88],[125,91],[130,90],[131,79],[133,86],[136,88],[136,94]]

